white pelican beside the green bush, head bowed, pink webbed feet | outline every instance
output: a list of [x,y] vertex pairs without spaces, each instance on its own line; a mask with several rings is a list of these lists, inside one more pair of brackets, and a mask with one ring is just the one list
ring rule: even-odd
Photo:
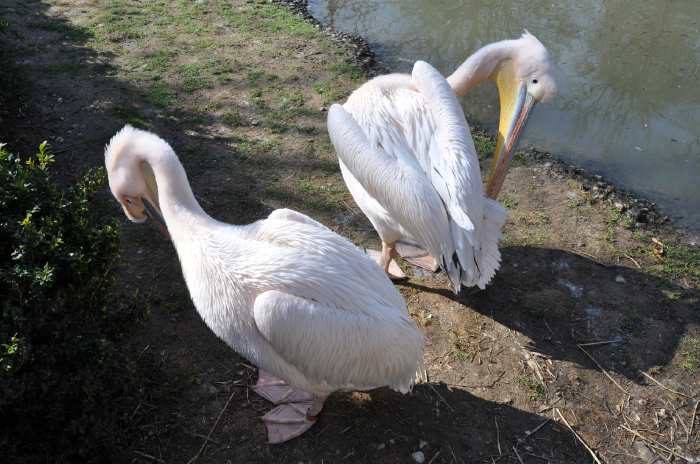
[[150,132],[124,127],[105,164],[127,217],[167,227],[207,326],[260,368],[255,390],[278,404],[263,416],[271,443],[311,427],[333,391],[406,393],[422,377],[423,336],[403,298],[348,240],[288,209],[250,225],[212,219]]

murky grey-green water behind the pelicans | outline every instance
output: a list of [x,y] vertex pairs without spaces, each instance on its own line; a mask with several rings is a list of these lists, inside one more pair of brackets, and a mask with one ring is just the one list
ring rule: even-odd
[[[309,9],[403,72],[423,59],[449,74],[478,47],[528,29],[558,67],[559,95],[537,106],[520,146],[601,173],[700,229],[699,1],[310,0]],[[493,86],[464,108],[495,128]]]

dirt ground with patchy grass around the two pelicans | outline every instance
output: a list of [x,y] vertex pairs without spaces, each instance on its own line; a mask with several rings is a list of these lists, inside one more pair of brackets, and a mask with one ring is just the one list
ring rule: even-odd
[[[377,246],[325,131],[325,107],[366,78],[348,45],[243,0],[4,0],[0,17],[20,89],[0,137],[24,153],[48,138],[66,181],[101,165],[129,122],[173,145],[212,216],[290,207]],[[409,269],[397,284],[427,337],[430,382],[335,394],[312,430],[278,446],[260,421],[270,405],[247,387],[255,368],[204,326],[170,243],[115,203],[120,281],[148,314],[124,349],[153,368],[114,461],[700,462],[691,238],[635,224],[527,154],[501,201],[503,264],[485,291],[454,296],[441,274]]]

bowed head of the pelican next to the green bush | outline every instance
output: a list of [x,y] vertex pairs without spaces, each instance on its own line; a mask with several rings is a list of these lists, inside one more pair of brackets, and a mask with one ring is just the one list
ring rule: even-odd
[[[149,132],[129,125],[124,126],[105,147],[109,188],[129,220],[142,223],[150,218],[160,231],[168,236],[158,203],[155,175],[145,161],[146,153],[139,153],[133,148],[136,145],[134,140],[137,139],[142,142],[139,146],[153,149],[152,152],[171,149],[162,139]],[[165,146],[160,146],[161,144]]]

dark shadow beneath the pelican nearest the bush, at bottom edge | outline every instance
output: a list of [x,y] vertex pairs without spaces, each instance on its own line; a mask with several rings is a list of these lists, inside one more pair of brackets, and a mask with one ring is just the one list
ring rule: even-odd
[[560,424],[444,383],[417,385],[409,395],[386,388],[333,395],[310,432],[266,453],[282,462],[292,450],[350,463],[406,462],[416,452],[438,464],[590,459]]

